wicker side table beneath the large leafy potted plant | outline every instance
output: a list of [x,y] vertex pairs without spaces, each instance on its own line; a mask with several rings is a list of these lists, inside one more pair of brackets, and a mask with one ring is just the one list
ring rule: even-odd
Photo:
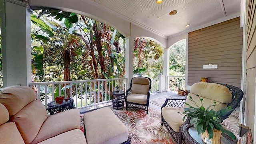
[[[186,144],[205,144],[202,141],[201,135],[190,124],[182,127],[181,133],[185,139]],[[237,140],[233,140],[226,134],[222,134],[220,141],[222,144],[237,144]]]

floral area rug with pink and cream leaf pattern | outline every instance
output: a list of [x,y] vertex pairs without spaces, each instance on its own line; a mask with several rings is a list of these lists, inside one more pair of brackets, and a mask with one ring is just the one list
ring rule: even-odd
[[161,126],[159,110],[149,108],[146,114],[146,111],[138,109],[111,109],[127,126],[132,139],[131,144],[174,144],[169,132]]

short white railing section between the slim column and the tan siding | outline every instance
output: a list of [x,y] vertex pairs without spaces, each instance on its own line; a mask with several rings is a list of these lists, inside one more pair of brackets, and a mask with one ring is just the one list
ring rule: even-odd
[[174,86],[174,82],[177,82],[178,80],[181,80],[182,88],[185,90],[185,76],[166,76],[166,89],[168,90],[178,90],[176,86]]

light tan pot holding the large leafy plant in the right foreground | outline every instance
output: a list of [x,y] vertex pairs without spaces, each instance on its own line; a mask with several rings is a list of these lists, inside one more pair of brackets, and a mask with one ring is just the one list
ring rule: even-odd
[[209,134],[207,128],[201,133],[201,138],[206,144],[220,144],[221,131],[213,129],[213,138],[209,140]]

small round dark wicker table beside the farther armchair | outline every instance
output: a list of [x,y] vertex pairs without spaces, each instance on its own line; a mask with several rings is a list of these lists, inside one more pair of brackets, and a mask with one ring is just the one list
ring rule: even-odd
[[124,91],[112,92],[112,104],[114,109],[120,110],[124,108],[124,95]]

